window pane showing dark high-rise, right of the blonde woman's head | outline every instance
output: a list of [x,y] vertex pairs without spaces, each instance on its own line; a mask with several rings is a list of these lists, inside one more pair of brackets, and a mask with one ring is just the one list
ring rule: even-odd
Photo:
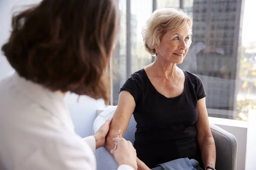
[[242,0],[184,0],[184,8],[193,17],[193,38],[179,67],[202,79],[209,116],[236,119]]

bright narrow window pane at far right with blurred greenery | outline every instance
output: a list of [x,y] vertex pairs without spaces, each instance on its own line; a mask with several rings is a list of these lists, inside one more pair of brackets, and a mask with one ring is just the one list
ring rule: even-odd
[[255,6],[255,0],[245,0],[236,103],[237,119],[240,120],[247,120],[249,108],[256,109],[256,23],[252,22]]

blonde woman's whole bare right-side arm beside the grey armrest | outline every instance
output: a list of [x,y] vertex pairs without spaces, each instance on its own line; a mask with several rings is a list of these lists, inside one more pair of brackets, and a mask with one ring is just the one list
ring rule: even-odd
[[209,126],[205,97],[198,100],[198,120],[195,125],[198,131],[197,140],[201,150],[204,166],[215,167],[216,148]]

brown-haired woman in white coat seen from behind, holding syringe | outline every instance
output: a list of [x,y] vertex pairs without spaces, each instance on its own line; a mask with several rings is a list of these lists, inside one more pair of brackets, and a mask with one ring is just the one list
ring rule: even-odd
[[[114,0],[43,0],[12,18],[2,51],[15,73],[0,81],[0,162],[7,170],[96,170],[109,119],[81,139],[66,92],[109,100],[105,71],[119,31]],[[131,142],[111,153],[119,170],[137,169]]]

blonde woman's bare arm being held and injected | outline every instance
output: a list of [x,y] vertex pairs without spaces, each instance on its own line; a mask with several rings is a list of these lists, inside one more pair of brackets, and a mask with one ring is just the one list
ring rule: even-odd
[[[107,143],[105,145],[108,151],[112,150],[115,145],[113,143],[113,138],[116,138],[119,129],[121,129],[120,138],[123,137],[128,124],[131,119],[131,115],[134,112],[135,101],[133,96],[128,91],[121,91],[119,94],[118,105],[116,111],[113,115],[113,120],[109,127]],[[143,161],[137,158],[138,170],[150,170]]]

